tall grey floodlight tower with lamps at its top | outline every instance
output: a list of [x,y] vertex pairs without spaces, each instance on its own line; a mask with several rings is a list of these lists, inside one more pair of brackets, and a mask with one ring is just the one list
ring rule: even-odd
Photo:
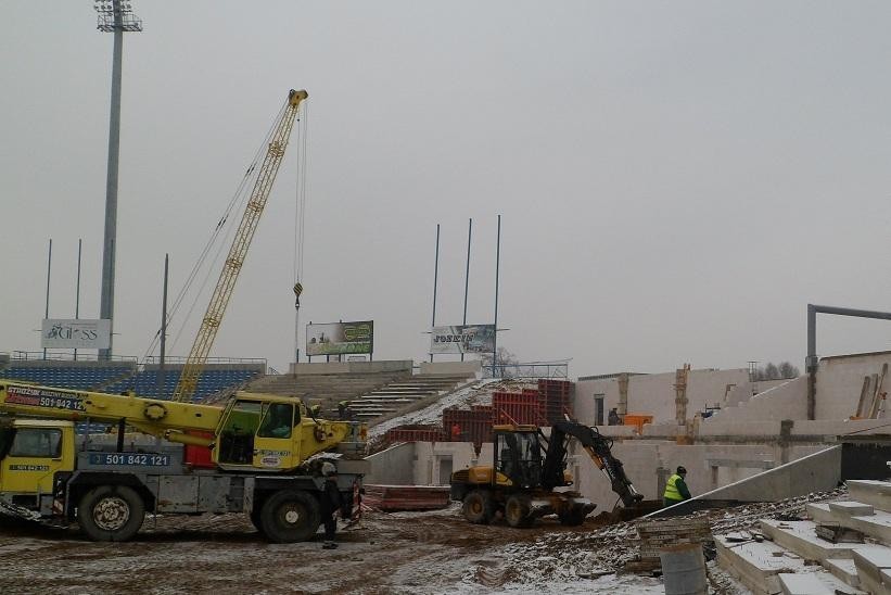
[[117,155],[120,149],[120,63],[124,31],[139,33],[142,20],[132,4],[123,0],[93,0],[97,29],[114,34],[112,59],[112,107],[109,124],[109,170],[105,180],[105,241],[102,246],[102,294],[99,317],[109,320],[109,349],[99,350],[99,359],[111,359],[114,337],[114,263],[117,238]]

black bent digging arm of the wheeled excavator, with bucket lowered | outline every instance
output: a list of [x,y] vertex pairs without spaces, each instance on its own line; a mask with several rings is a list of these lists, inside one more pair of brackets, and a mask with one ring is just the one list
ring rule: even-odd
[[548,454],[542,470],[542,483],[545,488],[552,489],[563,485],[563,467],[569,436],[578,441],[597,468],[607,476],[612,491],[619,494],[625,508],[633,508],[640,504],[644,495],[634,489],[628,476],[625,474],[622,461],[612,455],[612,440],[601,435],[596,428],[574,421],[558,421],[551,427]]

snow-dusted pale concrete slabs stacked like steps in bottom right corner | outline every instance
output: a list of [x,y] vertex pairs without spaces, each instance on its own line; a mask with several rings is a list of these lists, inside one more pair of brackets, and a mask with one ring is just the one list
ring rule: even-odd
[[[852,480],[848,492],[847,502],[807,504],[811,520],[716,536],[718,564],[753,593],[891,594],[891,482]],[[819,537],[818,526],[855,543]]]

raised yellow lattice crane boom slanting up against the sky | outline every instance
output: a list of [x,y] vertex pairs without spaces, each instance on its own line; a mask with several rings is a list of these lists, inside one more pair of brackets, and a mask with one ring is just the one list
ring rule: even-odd
[[306,91],[295,91],[294,89],[291,89],[288,93],[288,103],[281,117],[273,126],[275,131],[267,147],[266,156],[263,160],[257,178],[254,181],[254,188],[251,191],[251,198],[236,232],[236,239],[229,248],[229,254],[226,256],[211,303],[207,305],[207,312],[201,321],[198,337],[195,337],[195,342],[192,344],[192,350],[186,359],[179,382],[174,389],[174,401],[190,401],[195,392],[198,380],[204,370],[207,355],[211,353],[214,339],[216,339],[219,325],[222,321],[226,306],[232,296],[244,258],[247,256],[247,249],[251,248],[251,240],[254,238],[259,217],[263,215],[269,192],[272,190],[272,182],[276,180],[281,160],[284,156],[297,109],[307,97],[309,96]]

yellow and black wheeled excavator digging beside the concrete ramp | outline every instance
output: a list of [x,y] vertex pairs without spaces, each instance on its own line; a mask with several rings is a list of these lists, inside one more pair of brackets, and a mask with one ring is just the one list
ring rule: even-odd
[[536,426],[494,426],[494,461],[451,474],[450,497],[463,504],[464,518],[478,524],[504,517],[510,527],[529,527],[546,515],[562,524],[578,526],[596,505],[573,491],[555,491],[573,484],[567,468],[570,439],[575,439],[607,476],[612,490],[631,512],[644,495],[632,484],[622,461],[612,456],[612,441],[596,428],[558,421],[545,435]]

